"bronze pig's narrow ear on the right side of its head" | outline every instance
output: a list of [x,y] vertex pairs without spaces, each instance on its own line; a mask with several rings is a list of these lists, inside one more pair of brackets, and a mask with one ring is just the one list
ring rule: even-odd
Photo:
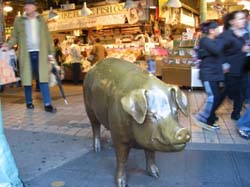
[[185,116],[188,116],[188,102],[186,95],[180,90],[179,87],[173,86],[170,89],[173,99],[176,101],[178,107],[181,109]]

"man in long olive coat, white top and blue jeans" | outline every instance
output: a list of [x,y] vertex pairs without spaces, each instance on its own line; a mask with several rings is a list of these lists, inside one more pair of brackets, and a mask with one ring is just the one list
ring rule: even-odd
[[55,113],[56,108],[51,104],[49,90],[48,58],[53,58],[51,37],[47,24],[37,12],[37,4],[34,0],[26,0],[24,14],[16,17],[10,40],[4,47],[12,48],[18,45],[20,76],[24,85],[26,106],[34,109],[32,102],[32,79],[39,80],[42,91],[44,109]]

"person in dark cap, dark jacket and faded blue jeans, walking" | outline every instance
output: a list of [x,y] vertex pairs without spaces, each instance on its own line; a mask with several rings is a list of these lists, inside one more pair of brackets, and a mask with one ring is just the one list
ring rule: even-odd
[[201,31],[205,36],[200,39],[198,50],[198,56],[201,58],[200,80],[204,85],[207,101],[193,119],[197,125],[215,130],[219,128],[215,123],[218,120],[215,111],[225,95],[220,89],[220,82],[224,81],[221,60],[224,42],[217,38],[219,29],[214,21],[202,23]]

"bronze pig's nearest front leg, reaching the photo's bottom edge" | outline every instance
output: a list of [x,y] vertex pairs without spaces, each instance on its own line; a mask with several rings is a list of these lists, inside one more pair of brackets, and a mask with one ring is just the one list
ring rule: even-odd
[[116,187],[127,186],[126,163],[128,160],[129,147],[127,145],[116,145]]

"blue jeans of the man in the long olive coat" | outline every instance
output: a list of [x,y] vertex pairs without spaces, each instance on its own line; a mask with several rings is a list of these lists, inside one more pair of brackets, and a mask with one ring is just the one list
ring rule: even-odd
[[[29,52],[29,54],[30,54],[32,77],[39,78],[39,61],[38,61],[39,53],[35,51],[35,52]],[[50,96],[49,84],[47,82],[41,83],[39,81],[39,86],[43,96],[43,104],[50,105],[51,96]],[[32,103],[32,86],[24,86],[24,94],[25,94],[26,104]]]

